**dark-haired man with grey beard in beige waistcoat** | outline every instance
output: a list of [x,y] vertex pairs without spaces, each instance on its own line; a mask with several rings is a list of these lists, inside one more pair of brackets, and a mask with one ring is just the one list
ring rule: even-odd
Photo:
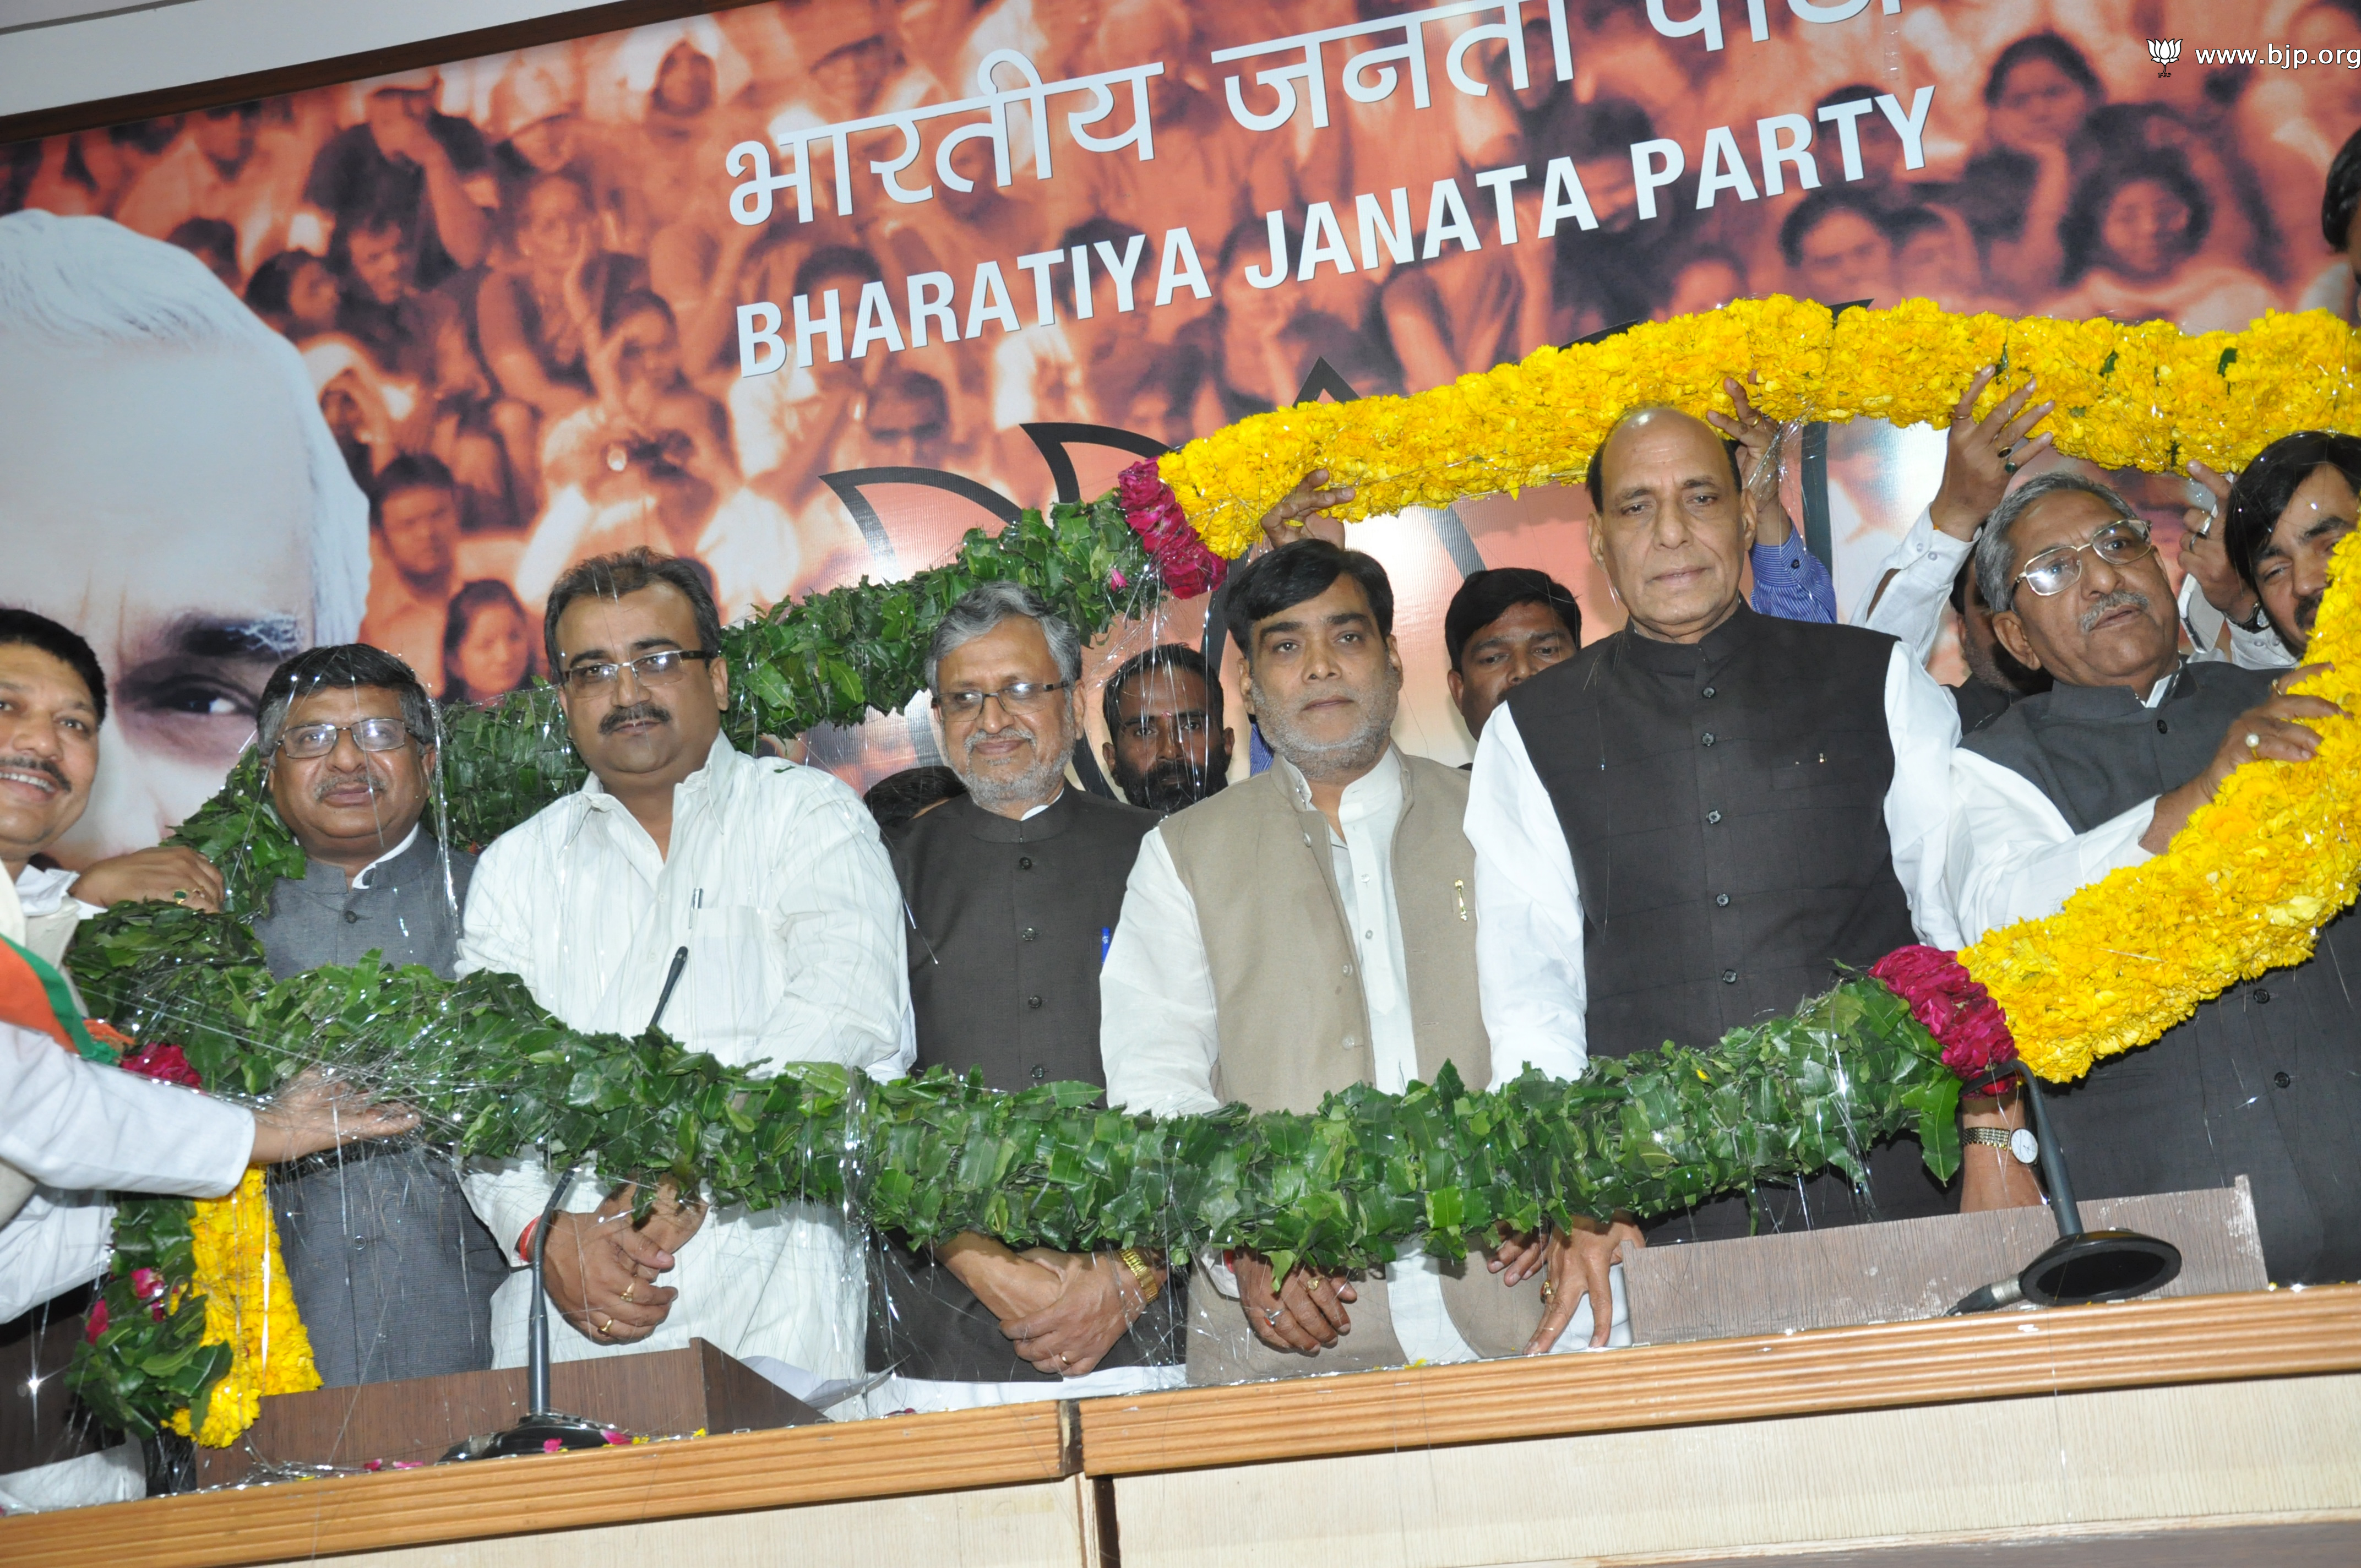
[[[1433,1082],[1443,1063],[1495,1082],[1469,782],[1391,741],[1402,664],[1384,567],[1301,538],[1232,579],[1228,621],[1275,763],[1140,841],[1100,971],[1107,1100],[1308,1112],[1348,1084]],[[1513,1355],[1542,1318],[1539,1266],[1539,1247],[1499,1270],[1412,1254],[1369,1275],[1296,1268],[1273,1289],[1261,1256],[1209,1259],[1190,1381]]]

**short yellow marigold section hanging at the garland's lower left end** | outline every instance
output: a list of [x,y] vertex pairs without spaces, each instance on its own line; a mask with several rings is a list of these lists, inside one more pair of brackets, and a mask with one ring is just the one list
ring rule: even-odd
[[[236,1193],[201,1200],[194,1209],[196,1278],[189,1289],[205,1296],[205,1344],[227,1344],[231,1355],[229,1372],[205,1400],[196,1440],[229,1448],[255,1424],[264,1393],[319,1389],[319,1367],[288,1289],[262,1171],[246,1171]],[[177,1294],[172,1306],[179,1306]],[[172,1417],[172,1431],[189,1436],[187,1410]]]

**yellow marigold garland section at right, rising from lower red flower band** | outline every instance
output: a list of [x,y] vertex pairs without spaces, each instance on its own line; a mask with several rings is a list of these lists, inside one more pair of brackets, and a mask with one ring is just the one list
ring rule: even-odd
[[[2300,692],[2361,713],[2361,534],[2337,545]],[[1960,954],[2026,1065],[2052,1082],[2144,1046],[2210,997],[2311,956],[2361,878],[2361,723],[2326,720],[2309,763],[2245,763],[2167,852],[2082,888],[2047,921]]]

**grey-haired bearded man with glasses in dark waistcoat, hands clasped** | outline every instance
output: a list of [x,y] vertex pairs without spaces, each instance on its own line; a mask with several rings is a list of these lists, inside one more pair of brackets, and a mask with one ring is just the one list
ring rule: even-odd
[[[918,1065],[992,1089],[1103,1084],[1098,966],[1155,817],[1065,782],[1081,638],[1032,588],[982,583],[942,616],[926,680],[966,796],[888,834],[909,907]],[[1133,1393],[1180,1381],[1164,1261],[987,1235],[878,1235],[869,1367],[897,1410]]]

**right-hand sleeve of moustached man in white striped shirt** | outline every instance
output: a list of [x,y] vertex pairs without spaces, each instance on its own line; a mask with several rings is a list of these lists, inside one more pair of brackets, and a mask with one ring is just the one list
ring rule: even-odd
[[890,1065],[914,1039],[902,883],[850,786],[819,770],[789,777],[817,789],[770,845],[767,916],[786,952],[786,987],[763,1020],[756,1053],[772,1065]]

